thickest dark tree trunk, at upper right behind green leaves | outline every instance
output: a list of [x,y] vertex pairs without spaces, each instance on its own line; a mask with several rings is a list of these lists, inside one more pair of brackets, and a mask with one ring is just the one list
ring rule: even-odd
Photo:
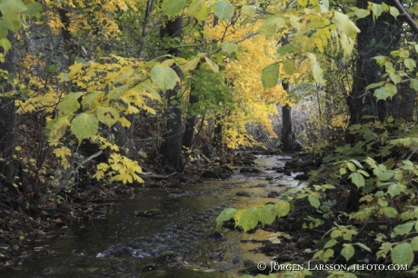
[[[381,4],[389,1],[374,1]],[[358,0],[357,7],[366,9],[367,0]],[[376,102],[373,97],[373,90],[366,91],[369,84],[382,80],[383,68],[373,59],[377,55],[389,55],[396,49],[401,38],[401,23],[396,21],[389,13],[383,13],[373,22],[372,15],[357,21],[361,33],[357,36],[357,65],[353,79],[353,89],[349,97],[350,124],[362,123],[364,115],[373,115],[380,121],[387,116],[400,117],[398,98],[401,94],[395,95],[392,100],[380,100]],[[348,136],[347,141],[353,142],[353,137]]]

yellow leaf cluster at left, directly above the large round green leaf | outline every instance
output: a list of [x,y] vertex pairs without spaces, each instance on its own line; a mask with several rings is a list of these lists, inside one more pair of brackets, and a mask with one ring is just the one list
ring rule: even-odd
[[[160,101],[160,95],[149,81],[141,83],[145,73],[134,71],[141,65],[144,63],[137,59],[111,55],[100,58],[100,63],[89,61],[83,65],[75,62],[68,73],[59,74],[59,80],[62,83],[69,81],[94,94],[88,104],[90,109],[108,105],[109,99],[120,98],[123,104],[114,102],[113,106],[123,114],[136,114],[139,109],[155,114],[146,99]],[[105,96],[105,93],[108,94]],[[130,125],[125,118],[121,118],[121,124]]]

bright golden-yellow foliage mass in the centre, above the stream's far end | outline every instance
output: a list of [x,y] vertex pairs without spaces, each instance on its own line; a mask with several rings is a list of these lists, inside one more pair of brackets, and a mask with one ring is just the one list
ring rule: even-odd
[[239,107],[224,119],[227,126],[224,139],[228,147],[237,148],[240,145],[254,144],[251,136],[246,134],[247,123],[261,124],[272,137],[275,137],[269,116],[277,114],[275,104],[284,102],[286,93],[280,85],[266,90],[263,87],[260,77],[265,65],[275,62],[276,45],[264,36],[253,35],[262,25],[262,21],[257,20],[229,28],[225,25],[225,23],[213,27],[206,25],[208,39],[221,41],[224,38],[222,41],[224,44],[249,37],[239,43],[236,59],[224,60],[224,77],[234,88],[234,102]]

